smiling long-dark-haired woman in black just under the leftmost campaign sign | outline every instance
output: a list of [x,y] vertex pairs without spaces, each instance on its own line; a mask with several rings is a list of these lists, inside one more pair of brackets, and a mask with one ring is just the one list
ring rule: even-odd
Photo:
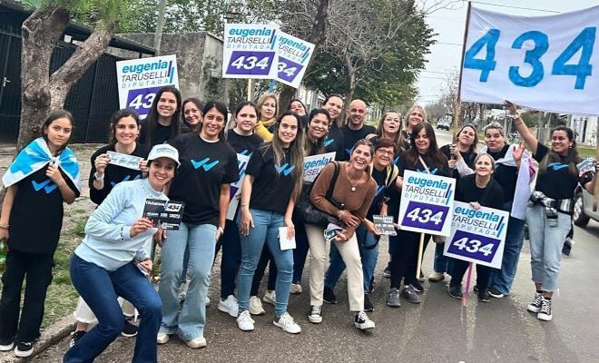
[[150,113],[143,123],[140,142],[148,148],[168,142],[179,135],[180,120],[181,93],[176,87],[166,85],[154,97]]

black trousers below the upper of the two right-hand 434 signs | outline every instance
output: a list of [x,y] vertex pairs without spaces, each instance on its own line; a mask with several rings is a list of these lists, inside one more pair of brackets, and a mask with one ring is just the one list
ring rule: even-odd
[[[404,284],[408,285],[417,280],[416,271],[418,260],[418,244],[420,243],[420,233],[412,231],[398,231],[397,236],[389,236],[389,243],[394,243],[391,250],[391,289],[401,288],[401,279],[405,278]],[[422,250],[427,250],[430,235],[425,235],[425,242]]]

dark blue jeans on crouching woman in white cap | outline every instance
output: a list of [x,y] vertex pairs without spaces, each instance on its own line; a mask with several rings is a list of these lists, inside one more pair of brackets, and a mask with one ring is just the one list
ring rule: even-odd
[[71,280],[92,309],[98,324],[64,354],[64,363],[93,361],[121,334],[124,317],[121,305],[116,300],[119,296],[130,301],[142,317],[132,361],[158,361],[156,334],[162,319],[162,303],[150,280],[143,276],[133,262],[118,270],[108,271],[73,254]]

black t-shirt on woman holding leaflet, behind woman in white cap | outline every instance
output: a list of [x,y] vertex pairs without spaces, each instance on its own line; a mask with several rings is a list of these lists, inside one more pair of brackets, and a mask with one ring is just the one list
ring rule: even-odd
[[[104,170],[104,187],[101,190],[93,188],[93,174],[95,173],[95,160],[98,156],[106,152],[116,152],[114,145],[105,145],[93,152],[92,155],[92,170],[90,171],[89,187],[90,187],[90,199],[95,204],[100,204],[106,199],[108,193],[113,190],[114,186],[119,182],[135,181],[142,177],[142,171],[125,168],[124,166],[108,164]],[[130,155],[139,156],[142,159],[147,159],[150,151],[141,142],[137,142],[135,150]]]

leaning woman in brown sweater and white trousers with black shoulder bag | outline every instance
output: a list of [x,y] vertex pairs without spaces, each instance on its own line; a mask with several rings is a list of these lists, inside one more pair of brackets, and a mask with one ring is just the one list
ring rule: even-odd
[[[354,326],[374,329],[374,321],[364,311],[364,275],[360,260],[356,229],[364,221],[377,192],[377,182],[370,176],[374,148],[367,140],[353,145],[349,162],[329,162],[322,169],[310,192],[310,202],[320,211],[339,219],[339,230],[330,239],[325,238],[325,228],[306,224],[308,234],[309,294],[311,323],[322,322],[324,274],[329,260],[329,243],[333,241],[348,270],[349,309],[355,311]],[[329,186],[332,195],[327,198]],[[328,227],[328,226],[327,226]]]

